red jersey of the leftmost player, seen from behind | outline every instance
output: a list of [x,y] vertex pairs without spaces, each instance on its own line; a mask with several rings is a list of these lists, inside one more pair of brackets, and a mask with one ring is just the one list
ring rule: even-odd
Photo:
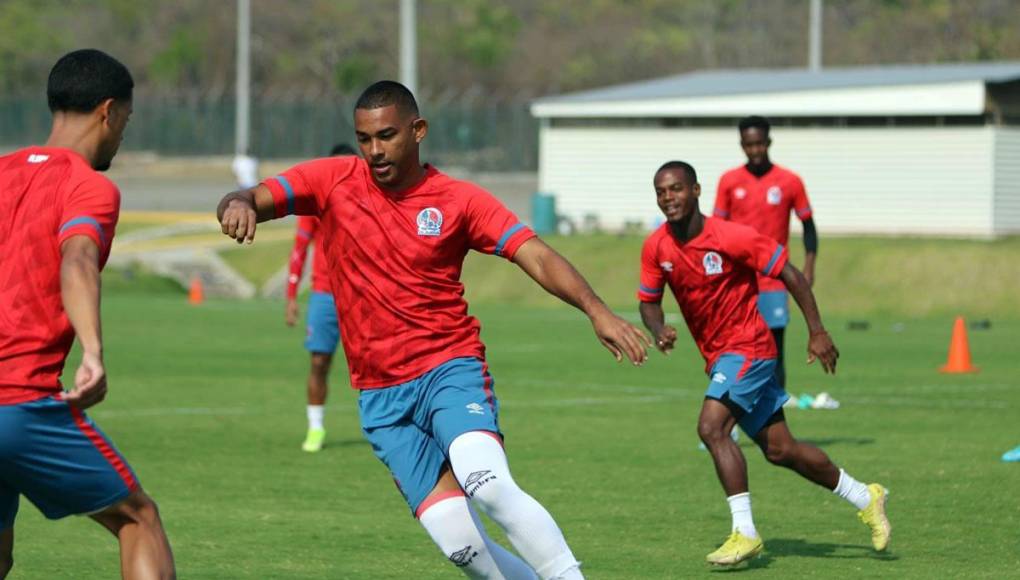
[[119,211],[116,186],[70,150],[0,157],[0,405],[60,390],[74,341],[60,296],[60,245],[88,235],[102,268]]

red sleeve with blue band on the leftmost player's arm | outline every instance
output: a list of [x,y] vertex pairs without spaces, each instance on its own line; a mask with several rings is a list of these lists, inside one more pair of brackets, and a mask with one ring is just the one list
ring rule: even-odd
[[86,235],[99,247],[99,267],[106,264],[113,244],[113,230],[120,216],[120,191],[102,175],[93,175],[74,186],[60,211],[57,244],[73,235]]

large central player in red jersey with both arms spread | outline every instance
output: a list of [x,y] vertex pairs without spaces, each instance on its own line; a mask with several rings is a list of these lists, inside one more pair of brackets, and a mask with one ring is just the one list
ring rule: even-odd
[[[643,363],[648,337],[490,193],[421,164],[428,123],[404,86],[369,87],[354,124],[360,158],[308,161],[225,196],[223,232],[251,242],[256,221],[319,217],[362,430],[451,563],[472,578],[581,578],[556,522],[507,465],[480,325],[463,299],[464,257],[517,264],[583,311],[617,360]],[[488,537],[468,497],[524,562]]]

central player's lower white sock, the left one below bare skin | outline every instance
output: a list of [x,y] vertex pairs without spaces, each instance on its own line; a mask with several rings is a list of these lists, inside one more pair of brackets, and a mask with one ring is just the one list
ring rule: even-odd
[[463,495],[434,504],[418,518],[436,545],[468,578],[533,580],[534,572],[490,539]]

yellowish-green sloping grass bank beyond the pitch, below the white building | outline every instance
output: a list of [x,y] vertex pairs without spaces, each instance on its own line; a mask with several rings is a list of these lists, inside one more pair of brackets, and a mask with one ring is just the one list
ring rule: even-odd
[[[552,236],[549,243],[570,259],[611,305],[631,308],[638,283],[642,236]],[[794,263],[803,265],[804,246],[790,242]],[[290,241],[231,250],[223,258],[261,284],[286,263]],[[1020,318],[1020,238],[991,242],[911,238],[822,240],[817,284],[822,312],[854,317]],[[502,260],[468,255],[464,283],[478,304],[507,302],[555,307],[556,299]]]

